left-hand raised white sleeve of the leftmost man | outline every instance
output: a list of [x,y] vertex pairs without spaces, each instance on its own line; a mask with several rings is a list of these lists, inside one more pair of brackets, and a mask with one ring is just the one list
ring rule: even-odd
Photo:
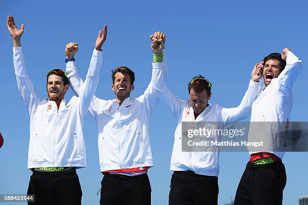
[[14,68],[18,90],[29,111],[29,115],[36,110],[39,97],[36,95],[33,83],[28,76],[24,54],[21,47],[13,47]]

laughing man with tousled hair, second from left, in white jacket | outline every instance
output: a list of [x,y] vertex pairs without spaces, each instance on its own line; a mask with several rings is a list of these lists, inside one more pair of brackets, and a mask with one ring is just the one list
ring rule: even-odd
[[[162,40],[165,36],[162,34]],[[76,67],[67,67],[70,87],[79,96],[83,80]],[[166,77],[166,76],[164,76]],[[115,99],[93,97],[89,112],[98,128],[101,182],[100,204],[150,204],[147,169],[153,166],[149,142],[150,116],[159,98],[152,82],[139,97],[130,97],[134,72],[125,66],[112,70]]]

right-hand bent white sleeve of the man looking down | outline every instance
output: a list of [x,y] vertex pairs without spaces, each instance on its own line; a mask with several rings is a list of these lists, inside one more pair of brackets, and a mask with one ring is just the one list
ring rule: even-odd
[[241,101],[241,104],[236,108],[222,108],[218,122],[224,127],[226,123],[237,122],[247,118],[251,112],[251,107],[256,99],[256,94],[259,89],[260,82],[250,80],[248,89]]

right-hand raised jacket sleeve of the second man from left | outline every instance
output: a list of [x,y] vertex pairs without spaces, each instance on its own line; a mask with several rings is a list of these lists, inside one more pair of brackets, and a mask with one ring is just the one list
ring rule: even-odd
[[[167,81],[167,57],[166,57],[166,51],[165,49],[163,49],[163,77],[164,80]],[[154,89],[153,89],[153,82],[152,79],[149,82],[147,88],[145,89],[143,95],[143,102],[146,106],[146,110],[148,112],[148,115],[151,115],[153,110],[156,108],[158,101],[159,101],[159,97],[154,93]]]

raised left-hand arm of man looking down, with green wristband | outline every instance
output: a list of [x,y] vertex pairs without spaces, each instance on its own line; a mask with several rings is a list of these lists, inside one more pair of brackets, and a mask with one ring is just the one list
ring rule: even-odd
[[167,65],[163,56],[163,49],[165,48],[165,41],[162,39],[151,38],[151,49],[153,51],[153,69],[152,78],[153,83],[153,93],[159,97],[159,99],[167,106],[167,108],[172,112],[176,119],[179,118],[181,113],[181,105],[185,104],[185,101],[180,100],[168,87],[166,84],[167,69],[164,72],[164,66]]

